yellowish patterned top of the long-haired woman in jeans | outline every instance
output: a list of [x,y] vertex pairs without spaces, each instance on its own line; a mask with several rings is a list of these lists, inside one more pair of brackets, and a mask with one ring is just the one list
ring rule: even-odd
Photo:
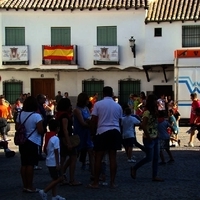
[[[148,110],[144,111],[143,118],[144,117],[148,118],[147,131],[149,133],[150,138],[157,138],[158,137],[157,118],[152,116]],[[145,138],[146,135],[143,134],[143,137]]]

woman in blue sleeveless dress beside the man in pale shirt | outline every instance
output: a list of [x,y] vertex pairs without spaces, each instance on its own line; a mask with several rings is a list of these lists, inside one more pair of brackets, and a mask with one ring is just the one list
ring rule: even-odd
[[74,116],[74,133],[80,137],[80,145],[78,150],[80,151],[80,161],[85,164],[85,158],[88,152],[91,178],[94,177],[94,153],[93,142],[90,136],[89,122],[90,111],[87,107],[89,103],[89,97],[86,93],[82,92],[78,95],[77,106],[73,111]]

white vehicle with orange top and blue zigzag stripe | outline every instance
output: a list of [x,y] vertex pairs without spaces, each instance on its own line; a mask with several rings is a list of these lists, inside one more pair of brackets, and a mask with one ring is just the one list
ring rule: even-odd
[[200,49],[174,51],[174,100],[178,104],[181,123],[189,124],[191,93],[200,99]]

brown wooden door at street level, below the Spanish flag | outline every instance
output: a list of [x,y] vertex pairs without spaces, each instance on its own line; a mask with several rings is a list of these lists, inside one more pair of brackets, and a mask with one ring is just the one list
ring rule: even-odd
[[36,97],[38,94],[48,95],[49,99],[54,99],[55,79],[31,79],[31,95]]

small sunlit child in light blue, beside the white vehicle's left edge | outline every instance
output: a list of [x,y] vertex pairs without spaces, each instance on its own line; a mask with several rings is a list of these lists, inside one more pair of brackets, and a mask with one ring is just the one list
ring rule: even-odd
[[[179,127],[178,127],[176,118],[174,117],[174,111],[172,109],[168,111],[168,116],[169,116],[169,123],[173,131],[173,136],[171,137],[172,145],[180,146],[180,140],[178,139]],[[175,141],[175,144],[173,144],[174,141]]]

